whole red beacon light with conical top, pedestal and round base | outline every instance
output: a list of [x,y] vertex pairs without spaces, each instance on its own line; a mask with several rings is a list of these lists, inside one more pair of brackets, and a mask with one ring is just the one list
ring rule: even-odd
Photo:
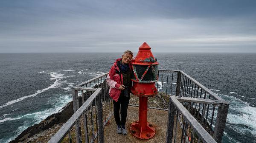
[[148,97],[157,95],[155,82],[158,79],[158,62],[151,53],[150,46],[144,42],[139,52],[131,62],[133,86],[131,93],[140,98],[139,121],[131,124],[132,135],[140,139],[149,139],[155,135],[155,128],[147,122]]

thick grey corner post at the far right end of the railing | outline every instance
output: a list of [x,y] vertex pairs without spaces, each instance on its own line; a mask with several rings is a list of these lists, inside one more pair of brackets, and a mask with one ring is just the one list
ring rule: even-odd
[[222,107],[218,107],[218,113],[216,117],[216,125],[214,128],[213,138],[217,143],[221,143],[223,132],[225,129],[227,112],[228,112],[229,104],[223,103]]

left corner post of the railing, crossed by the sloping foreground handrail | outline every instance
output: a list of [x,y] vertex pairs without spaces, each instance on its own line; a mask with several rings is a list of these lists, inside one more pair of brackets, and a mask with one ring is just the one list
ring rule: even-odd
[[[72,97],[73,97],[73,111],[74,113],[79,109],[79,98],[78,98],[78,91],[75,89],[72,89]],[[80,119],[78,118],[76,120],[76,142],[77,143],[81,143],[81,129],[80,129],[80,125],[79,125],[79,121]]]

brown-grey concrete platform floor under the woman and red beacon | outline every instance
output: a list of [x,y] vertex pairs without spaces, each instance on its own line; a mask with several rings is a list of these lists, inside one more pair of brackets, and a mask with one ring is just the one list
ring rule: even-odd
[[128,107],[126,129],[127,135],[119,135],[116,133],[116,122],[114,116],[110,119],[110,124],[104,127],[105,143],[165,143],[166,142],[166,128],[167,128],[168,112],[157,109],[148,109],[148,122],[151,123],[155,129],[156,134],[148,140],[138,139],[130,132],[130,125],[138,120],[138,107]]

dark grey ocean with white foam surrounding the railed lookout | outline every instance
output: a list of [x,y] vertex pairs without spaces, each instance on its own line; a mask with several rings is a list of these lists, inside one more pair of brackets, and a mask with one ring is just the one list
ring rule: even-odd
[[[256,143],[256,53],[153,53],[230,102],[223,143]],[[0,53],[0,143],[72,101],[71,87],[108,72],[122,53]]]

